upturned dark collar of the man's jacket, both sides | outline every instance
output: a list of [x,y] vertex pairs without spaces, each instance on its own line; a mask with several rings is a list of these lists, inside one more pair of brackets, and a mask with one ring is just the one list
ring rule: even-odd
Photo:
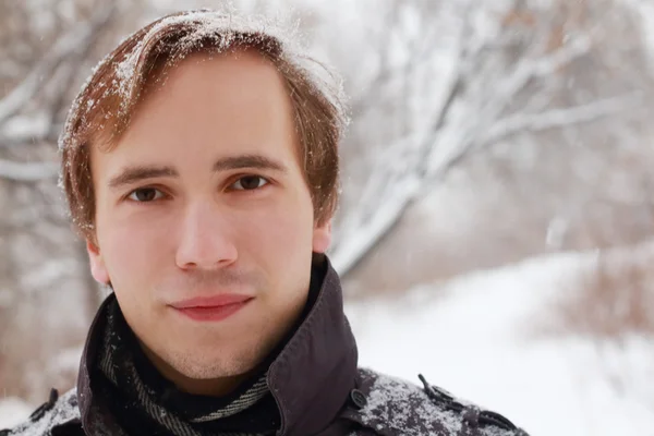
[[[325,256],[323,282],[304,320],[268,371],[268,387],[281,416],[280,435],[311,435],[331,423],[356,379],[356,342],[343,313],[340,279]],[[109,295],[88,334],[77,378],[82,424],[87,434],[119,434],[109,410],[94,396],[92,374],[102,341]]]

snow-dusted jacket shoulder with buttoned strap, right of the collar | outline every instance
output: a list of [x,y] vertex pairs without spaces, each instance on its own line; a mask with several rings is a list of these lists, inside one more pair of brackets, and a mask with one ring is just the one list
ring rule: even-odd
[[528,436],[506,417],[482,410],[436,388],[421,376],[424,387],[360,370],[356,421],[382,435]]

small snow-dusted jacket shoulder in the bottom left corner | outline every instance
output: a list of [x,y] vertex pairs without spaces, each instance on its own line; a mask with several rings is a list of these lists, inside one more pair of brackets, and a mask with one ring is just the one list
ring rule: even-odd
[[76,389],[59,396],[52,389],[50,399],[32,413],[23,424],[12,429],[0,429],[0,436],[46,436],[53,427],[80,420]]

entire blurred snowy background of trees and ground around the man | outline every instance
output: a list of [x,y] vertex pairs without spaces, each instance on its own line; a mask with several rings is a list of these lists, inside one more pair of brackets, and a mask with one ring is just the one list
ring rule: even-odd
[[[350,100],[330,255],[363,365],[533,435],[654,435],[654,2],[241,0]],[[0,427],[74,386],[106,290],[57,186],[90,69],[181,9],[0,0]]]

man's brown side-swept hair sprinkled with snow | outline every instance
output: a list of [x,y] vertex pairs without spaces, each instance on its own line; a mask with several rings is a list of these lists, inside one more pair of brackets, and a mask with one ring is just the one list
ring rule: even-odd
[[[164,16],[129,36],[94,69],[73,101],[59,140],[60,183],[83,237],[95,240],[90,147],[112,149],[146,93],[162,85],[167,72],[184,58],[239,50],[256,50],[283,77],[315,220],[323,225],[332,217],[339,191],[337,146],[347,124],[340,83],[294,49],[279,27],[201,10]],[[317,73],[318,65],[331,81]]]

